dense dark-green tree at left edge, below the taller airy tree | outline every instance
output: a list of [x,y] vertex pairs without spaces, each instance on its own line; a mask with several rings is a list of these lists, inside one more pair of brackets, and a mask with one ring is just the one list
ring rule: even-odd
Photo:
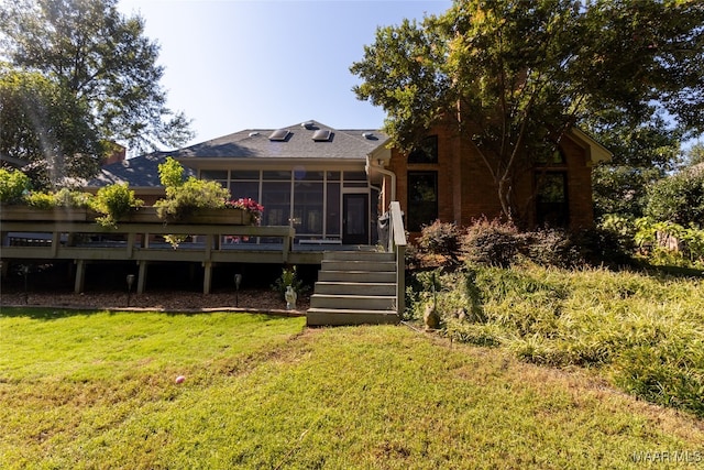
[[22,168],[36,188],[91,176],[106,150],[82,101],[40,73],[1,63],[0,122],[1,166]]

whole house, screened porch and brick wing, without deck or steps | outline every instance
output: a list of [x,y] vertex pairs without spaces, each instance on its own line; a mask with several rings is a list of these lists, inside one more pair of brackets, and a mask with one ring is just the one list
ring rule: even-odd
[[[293,226],[298,243],[374,244],[378,216],[392,200],[400,203],[411,233],[436,219],[469,225],[501,215],[491,175],[466,139],[437,128],[410,155],[387,142],[378,130],[337,130],[312,120],[244,130],[107,165],[89,186],[127,181],[152,203],[163,194],[157,166],[172,156],[189,174],[220,182],[233,198],[260,201],[262,225]],[[608,160],[606,149],[571,130],[556,155],[516,184],[528,223],[590,227],[592,166]]]

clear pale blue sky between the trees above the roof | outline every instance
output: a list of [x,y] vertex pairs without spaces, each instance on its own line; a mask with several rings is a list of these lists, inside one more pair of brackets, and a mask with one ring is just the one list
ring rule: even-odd
[[119,0],[161,45],[167,106],[193,120],[187,145],[316,120],[378,129],[384,111],[352,91],[350,66],[378,26],[441,14],[450,0]]

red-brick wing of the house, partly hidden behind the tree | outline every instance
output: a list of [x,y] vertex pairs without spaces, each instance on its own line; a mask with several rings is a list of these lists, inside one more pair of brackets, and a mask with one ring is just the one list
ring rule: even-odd
[[[554,155],[524,171],[515,182],[515,200],[525,210],[526,226],[591,227],[592,167],[610,157],[579,129],[568,132]],[[436,128],[409,155],[393,150],[383,163],[395,175],[395,194],[411,233],[436,219],[468,226],[480,217],[502,215],[496,186],[475,146],[447,128]],[[382,192],[388,195],[386,187]]]

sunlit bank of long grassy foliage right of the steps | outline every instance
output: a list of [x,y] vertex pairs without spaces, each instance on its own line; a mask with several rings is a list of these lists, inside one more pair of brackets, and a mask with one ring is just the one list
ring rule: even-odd
[[[593,368],[629,393],[704,416],[703,278],[530,263],[475,265],[462,275],[466,282],[438,273],[451,338],[529,362]],[[416,317],[424,300],[409,304]],[[462,308],[468,315],[458,317]]]

